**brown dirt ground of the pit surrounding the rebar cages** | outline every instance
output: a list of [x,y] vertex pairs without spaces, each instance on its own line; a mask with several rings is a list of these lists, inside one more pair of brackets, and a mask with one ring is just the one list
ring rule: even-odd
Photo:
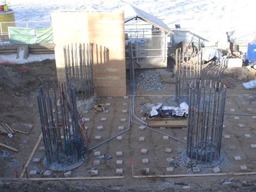
[[[34,128],[29,135],[16,134],[12,139],[6,135],[0,135],[1,142],[9,144],[15,148],[21,149],[18,153],[9,151],[12,157],[0,157],[0,189],[1,191],[256,191],[256,176],[241,176],[232,177],[185,177],[185,178],[132,178],[130,158],[135,160],[135,175],[140,175],[141,169],[150,168],[151,175],[165,175],[167,157],[177,158],[181,151],[185,149],[185,145],[172,139],[163,140],[162,135],[149,130],[139,130],[139,126],[132,124],[131,130],[123,135],[123,140],[113,139],[111,142],[97,148],[102,154],[112,155],[112,160],[103,162],[97,167],[99,176],[113,176],[116,168],[124,169],[123,179],[116,180],[86,180],[86,181],[27,181],[15,180],[19,175],[23,165],[26,163],[35,142],[41,133],[39,125],[39,117],[37,113],[37,104],[35,100],[35,90],[41,84],[38,77],[41,77],[44,82],[56,81],[55,62],[43,61],[33,62],[25,66],[19,65],[0,65],[0,120],[8,124],[14,122],[23,122],[34,124]],[[137,72],[140,73],[140,72]],[[247,74],[247,75],[246,75]],[[248,70],[233,69],[227,72],[226,79],[222,81],[235,81],[236,86],[233,89],[228,89],[228,98],[226,100],[226,112],[231,113],[256,113],[255,110],[255,91],[244,90],[242,82],[247,81],[253,75],[248,75]],[[239,77],[239,78],[238,78]],[[174,95],[175,94],[175,79],[162,75],[162,83],[165,84],[166,90],[161,91],[145,91],[138,90],[139,95],[148,95],[137,97],[137,104],[145,102],[164,102],[172,104],[173,97],[154,96],[154,95]],[[152,96],[153,95],[153,96]],[[128,110],[130,99],[124,97],[101,98],[102,103],[110,103],[106,109],[108,113],[98,113],[93,110],[83,113],[84,117],[90,118],[87,122],[88,131],[92,142],[90,146],[94,146],[100,141],[94,140],[95,135],[101,135],[102,140],[119,133],[118,126],[128,127],[128,122],[121,122],[121,119],[128,120],[128,113],[122,113],[122,110]],[[235,111],[233,111],[235,110]],[[141,108],[136,105],[135,113],[139,117],[143,117]],[[101,122],[101,117],[107,117],[106,122]],[[240,119],[234,119],[232,115],[226,115],[224,124],[224,135],[230,135],[230,139],[222,139],[222,149],[225,157],[219,165],[222,173],[227,172],[242,172],[241,165],[248,166],[248,171],[256,171],[256,153],[255,149],[250,148],[250,144],[256,144],[256,131],[254,123],[256,119],[251,117],[240,116]],[[244,127],[239,127],[239,124],[244,124]],[[103,130],[96,129],[102,125]],[[179,139],[184,140],[186,137],[186,129],[164,129],[164,133],[174,135]],[[247,138],[244,134],[250,134]],[[145,137],[144,142],[139,142],[139,137]],[[230,145],[236,146],[236,149],[230,149]],[[39,148],[43,146],[41,143]],[[172,148],[170,154],[164,152],[164,149]],[[43,158],[44,151],[37,149],[34,157]],[[148,149],[148,153],[143,155],[140,153],[141,148]],[[0,148],[3,150],[4,148]],[[123,157],[116,157],[116,151],[123,151]],[[234,160],[235,155],[240,155],[241,160]],[[143,164],[142,158],[148,158],[150,162]],[[91,169],[92,162],[97,158],[90,154],[88,160],[83,166],[72,171],[72,177],[89,177],[88,170]],[[116,160],[123,160],[122,166],[115,164]],[[41,163],[30,163],[28,170],[35,169],[37,171],[45,170]],[[201,173],[212,173],[212,168],[204,169]],[[178,167],[172,173],[188,174],[184,166]],[[41,177],[41,175],[36,175]],[[63,177],[63,172],[54,172],[52,177]]]

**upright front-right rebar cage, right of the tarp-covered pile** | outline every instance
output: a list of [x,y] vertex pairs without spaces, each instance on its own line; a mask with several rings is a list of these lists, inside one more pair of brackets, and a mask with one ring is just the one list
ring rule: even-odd
[[211,164],[221,155],[226,87],[192,79],[188,82],[186,155],[198,164]]

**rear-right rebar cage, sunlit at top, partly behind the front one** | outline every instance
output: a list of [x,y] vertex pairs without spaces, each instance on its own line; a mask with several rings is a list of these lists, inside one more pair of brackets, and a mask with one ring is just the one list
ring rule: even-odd
[[[175,102],[188,102],[188,81],[199,79],[202,71],[202,52],[184,57],[181,48],[175,53]],[[188,54],[187,54],[188,55]]]

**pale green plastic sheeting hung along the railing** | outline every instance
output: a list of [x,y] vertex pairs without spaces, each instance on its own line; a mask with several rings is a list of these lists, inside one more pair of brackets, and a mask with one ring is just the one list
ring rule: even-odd
[[52,28],[8,27],[10,44],[52,43]]

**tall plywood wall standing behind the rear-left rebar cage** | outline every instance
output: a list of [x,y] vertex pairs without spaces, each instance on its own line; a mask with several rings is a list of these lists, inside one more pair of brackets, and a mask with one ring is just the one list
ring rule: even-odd
[[95,92],[126,95],[123,12],[52,12],[52,27],[58,81],[66,81],[63,46],[93,43]]

